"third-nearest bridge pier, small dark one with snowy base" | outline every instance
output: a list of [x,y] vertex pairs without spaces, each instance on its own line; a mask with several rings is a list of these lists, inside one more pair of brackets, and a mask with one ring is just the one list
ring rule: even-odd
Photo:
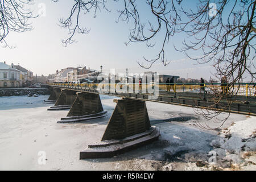
[[65,110],[71,109],[73,102],[76,99],[76,91],[61,89],[60,96],[58,97],[54,106],[48,110]]

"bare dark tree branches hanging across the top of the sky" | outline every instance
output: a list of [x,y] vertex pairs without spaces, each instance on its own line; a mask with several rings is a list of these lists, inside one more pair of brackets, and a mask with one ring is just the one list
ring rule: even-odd
[[[144,0],[146,8],[138,7],[141,0],[74,0],[69,16],[59,21],[60,26],[67,28],[69,32],[68,38],[63,40],[64,46],[76,42],[76,33],[88,34],[90,29],[81,26],[81,19],[90,13],[96,17],[101,9],[110,12],[106,7],[110,1],[123,5],[122,9],[118,10],[117,22],[123,20],[133,24],[126,44],[145,42],[146,46],[155,47],[155,43],[152,42],[157,39],[157,43],[161,45],[155,57],[144,57],[143,61],[138,62],[142,68],[151,68],[156,61],[168,65],[170,62],[166,58],[165,50],[171,38],[181,34],[186,35],[183,47],[174,45],[175,49],[184,52],[198,63],[212,63],[216,68],[215,79],[221,81],[225,76],[228,82],[229,89],[226,92],[212,89],[216,95],[215,106],[222,100],[228,103],[224,106],[226,108],[232,104],[230,98],[236,96],[245,74],[249,74],[251,82],[255,82],[253,60],[256,56],[256,0],[219,0],[214,3],[210,3],[209,0],[195,0],[192,6],[187,6],[187,3],[191,3],[188,0]],[[9,30],[29,30],[26,23],[31,14],[20,6],[23,1],[0,2],[0,40],[4,41]],[[144,11],[149,11],[152,17],[142,19]],[[159,39],[159,36],[162,39]],[[202,56],[191,55],[195,51]],[[238,88],[234,84],[238,84]],[[220,113],[221,111],[203,111],[203,115],[208,119]]]

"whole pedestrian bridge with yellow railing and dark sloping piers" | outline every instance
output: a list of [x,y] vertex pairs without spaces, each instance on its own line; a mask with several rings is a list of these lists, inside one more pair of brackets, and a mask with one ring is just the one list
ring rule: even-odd
[[[151,126],[145,101],[197,107],[214,111],[256,115],[255,87],[228,88],[220,85],[191,84],[48,84],[48,110],[69,109],[59,123],[85,122],[105,117],[100,94],[121,97],[100,141],[80,152],[80,159],[109,158],[158,140],[158,127]],[[92,141],[93,142],[93,141]]]

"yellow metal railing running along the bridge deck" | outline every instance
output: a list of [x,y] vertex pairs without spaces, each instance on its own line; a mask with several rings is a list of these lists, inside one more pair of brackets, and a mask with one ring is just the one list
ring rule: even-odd
[[[122,89],[126,86],[127,90],[134,90],[137,93],[141,93],[141,90],[148,89],[159,89],[159,94],[168,94],[174,93],[177,96],[180,94],[189,95],[189,94],[218,94],[218,93],[231,93],[237,96],[246,96],[246,97],[255,97],[256,96],[256,86],[253,85],[234,85],[232,89],[229,86],[221,86],[221,85],[192,85],[192,84],[68,84],[68,83],[55,83],[51,85],[61,86],[62,88],[71,88],[71,89],[88,89],[88,90],[97,90],[99,86],[102,89],[108,88],[109,91],[115,92],[117,89]],[[131,89],[132,87],[132,89]],[[143,92],[145,93],[145,92]]]

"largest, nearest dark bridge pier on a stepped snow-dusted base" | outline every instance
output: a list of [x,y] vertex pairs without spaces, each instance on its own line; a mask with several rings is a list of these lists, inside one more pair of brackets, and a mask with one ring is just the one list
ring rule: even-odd
[[80,152],[80,159],[110,158],[158,140],[159,128],[151,127],[144,101],[122,98],[117,103],[100,141]]

